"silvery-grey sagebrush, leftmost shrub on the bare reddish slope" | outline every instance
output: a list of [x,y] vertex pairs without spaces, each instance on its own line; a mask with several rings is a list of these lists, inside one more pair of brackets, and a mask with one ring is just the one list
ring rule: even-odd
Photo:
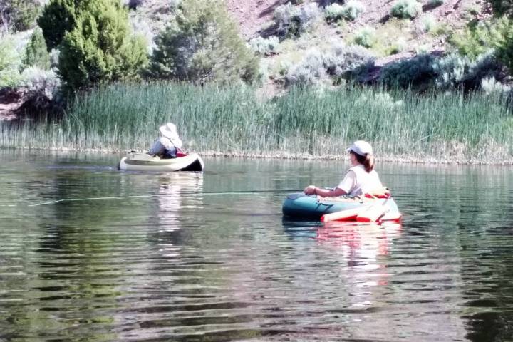
[[274,10],[274,23],[276,31],[282,37],[298,37],[304,33],[321,16],[321,10],[315,2],[301,7],[290,3],[276,7]]

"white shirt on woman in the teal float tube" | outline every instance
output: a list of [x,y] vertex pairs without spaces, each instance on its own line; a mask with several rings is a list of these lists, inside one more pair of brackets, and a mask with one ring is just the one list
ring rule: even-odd
[[346,176],[337,185],[338,189],[344,190],[347,195],[361,196],[379,187],[383,187],[378,172],[372,170],[367,172],[362,164],[351,167]]

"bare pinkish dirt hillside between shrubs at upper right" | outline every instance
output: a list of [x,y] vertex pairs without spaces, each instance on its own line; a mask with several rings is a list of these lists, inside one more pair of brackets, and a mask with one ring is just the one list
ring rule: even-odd
[[[242,36],[251,39],[259,36],[263,27],[269,26],[277,6],[286,4],[287,0],[225,0],[229,11],[238,21]],[[308,1],[305,1],[305,3]],[[317,1],[323,3],[337,1]],[[423,1],[423,12],[412,20],[395,19],[390,17],[390,9],[395,0],[360,0],[366,10],[355,21],[327,24],[321,21],[311,28],[306,37],[294,41],[282,42],[285,54],[303,51],[321,46],[327,38],[340,39],[344,43],[352,43],[354,35],[364,27],[375,30],[378,43],[371,48],[378,57],[378,64],[391,59],[411,56],[420,48],[427,51],[445,50],[447,36],[461,28],[472,19],[486,16],[488,9],[484,0],[444,0],[440,6],[430,6]],[[343,1],[338,1],[343,4]],[[296,5],[301,6],[301,4]],[[404,48],[390,53],[390,48],[398,41]],[[287,51],[288,50],[288,51]],[[395,55],[395,56],[394,56]],[[294,59],[294,58],[293,58]]]

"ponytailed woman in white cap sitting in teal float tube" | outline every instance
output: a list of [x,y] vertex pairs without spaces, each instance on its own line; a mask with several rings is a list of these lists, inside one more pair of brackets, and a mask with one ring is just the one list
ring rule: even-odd
[[361,196],[383,187],[378,172],[374,170],[374,156],[371,144],[358,140],[349,147],[349,159],[352,167],[346,176],[333,190],[326,190],[314,185],[306,187],[306,195],[319,195],[321,197],[335,196]]

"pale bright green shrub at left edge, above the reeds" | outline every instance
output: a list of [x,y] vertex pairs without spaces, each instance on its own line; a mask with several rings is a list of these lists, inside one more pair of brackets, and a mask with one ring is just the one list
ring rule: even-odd
[[0,36],[0,51],[0,88],[18,86],[21,58],[12,36]]

